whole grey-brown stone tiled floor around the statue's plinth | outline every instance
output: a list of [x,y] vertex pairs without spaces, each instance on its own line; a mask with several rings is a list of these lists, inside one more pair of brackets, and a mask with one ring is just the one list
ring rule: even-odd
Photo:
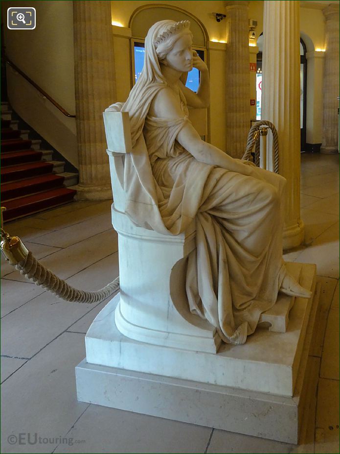
[[[107,301],[60,301],[1,258],[1,453],[339,453],[338,156],[303,154],[301,170],[306,239],[285,259],[317,263],[322,288],[299,446],[77,402],[74,367]],[[70,284],[96,289],[118,275],[110,205],[75,202],[6,228]]]

